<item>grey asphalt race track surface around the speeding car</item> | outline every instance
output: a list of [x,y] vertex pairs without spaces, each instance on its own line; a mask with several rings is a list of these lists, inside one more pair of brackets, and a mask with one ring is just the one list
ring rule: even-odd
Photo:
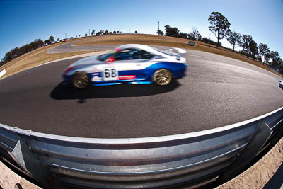
[[[56,47],[49,52],[110,49]],[[171,86],[64,88],[62,71],[77,59],[45,64],[0,80],[0,122],[73,137],[154,137],[230,125],[283,106],[281,79],[246,62],[187,50],[187,76]]]

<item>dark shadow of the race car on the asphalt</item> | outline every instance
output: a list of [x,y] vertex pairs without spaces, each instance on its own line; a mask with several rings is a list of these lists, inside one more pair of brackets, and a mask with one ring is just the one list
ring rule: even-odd
[[52,90],[50,97],[55,100],[78,99],[78,103],[84,103],[86,99],[91,98],[152,96],[159,93],[168,93],[179,86],[178,81],[173,81],[168,86],[121,84],[115,86],[90,86],[84,90],[77,90],[76,88],[67,88],[61,83]]

